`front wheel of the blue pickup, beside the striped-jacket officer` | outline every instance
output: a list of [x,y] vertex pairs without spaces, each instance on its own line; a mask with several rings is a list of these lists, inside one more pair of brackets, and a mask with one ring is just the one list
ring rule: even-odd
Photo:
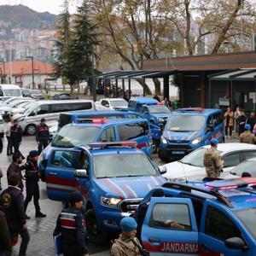
[[85,212],[85,220],[89,240],[97,244],[106,244],[108,242],[108,234],[97,224],[94,209],[89,209]]

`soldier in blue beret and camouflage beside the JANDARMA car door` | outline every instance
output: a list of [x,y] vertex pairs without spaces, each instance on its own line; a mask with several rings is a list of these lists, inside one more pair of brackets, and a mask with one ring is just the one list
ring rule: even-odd
[[111,256],[138,256],[148,255],[138,241],[137,222],[134,218],[125,217],[120,221],[121,234],[119,238],[113,241],[111,247]]

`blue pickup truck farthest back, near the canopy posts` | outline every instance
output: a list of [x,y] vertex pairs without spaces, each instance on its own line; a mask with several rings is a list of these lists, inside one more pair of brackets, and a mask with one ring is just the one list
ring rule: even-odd
[[172,111],[166,105],[149,97],[131,97],[128,109],[140,113],[153,125],[166,125],[166,120],[172,115]]

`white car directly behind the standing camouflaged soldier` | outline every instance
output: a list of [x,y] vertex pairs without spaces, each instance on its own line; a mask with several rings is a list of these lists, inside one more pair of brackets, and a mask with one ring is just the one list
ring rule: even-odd
[[[170,181],[202,180],[206,177],[206,168],[203,164],[204,154],[210,145],[195,149],[182,160],[178,160],[163,166],[166,169],[163,175]],[[218,150],[224,158],[224,168],[220,177],[227,176],[234,166],[243,160],[256,157],[256,145],[246,143],[219,143]]]

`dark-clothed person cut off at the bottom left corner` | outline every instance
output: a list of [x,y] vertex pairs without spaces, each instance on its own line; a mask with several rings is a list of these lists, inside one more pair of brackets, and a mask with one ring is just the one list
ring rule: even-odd
[[0,256],[9,256],[12,252],[12,245],[9,238],[8,224],[4,212],[0,208]]

